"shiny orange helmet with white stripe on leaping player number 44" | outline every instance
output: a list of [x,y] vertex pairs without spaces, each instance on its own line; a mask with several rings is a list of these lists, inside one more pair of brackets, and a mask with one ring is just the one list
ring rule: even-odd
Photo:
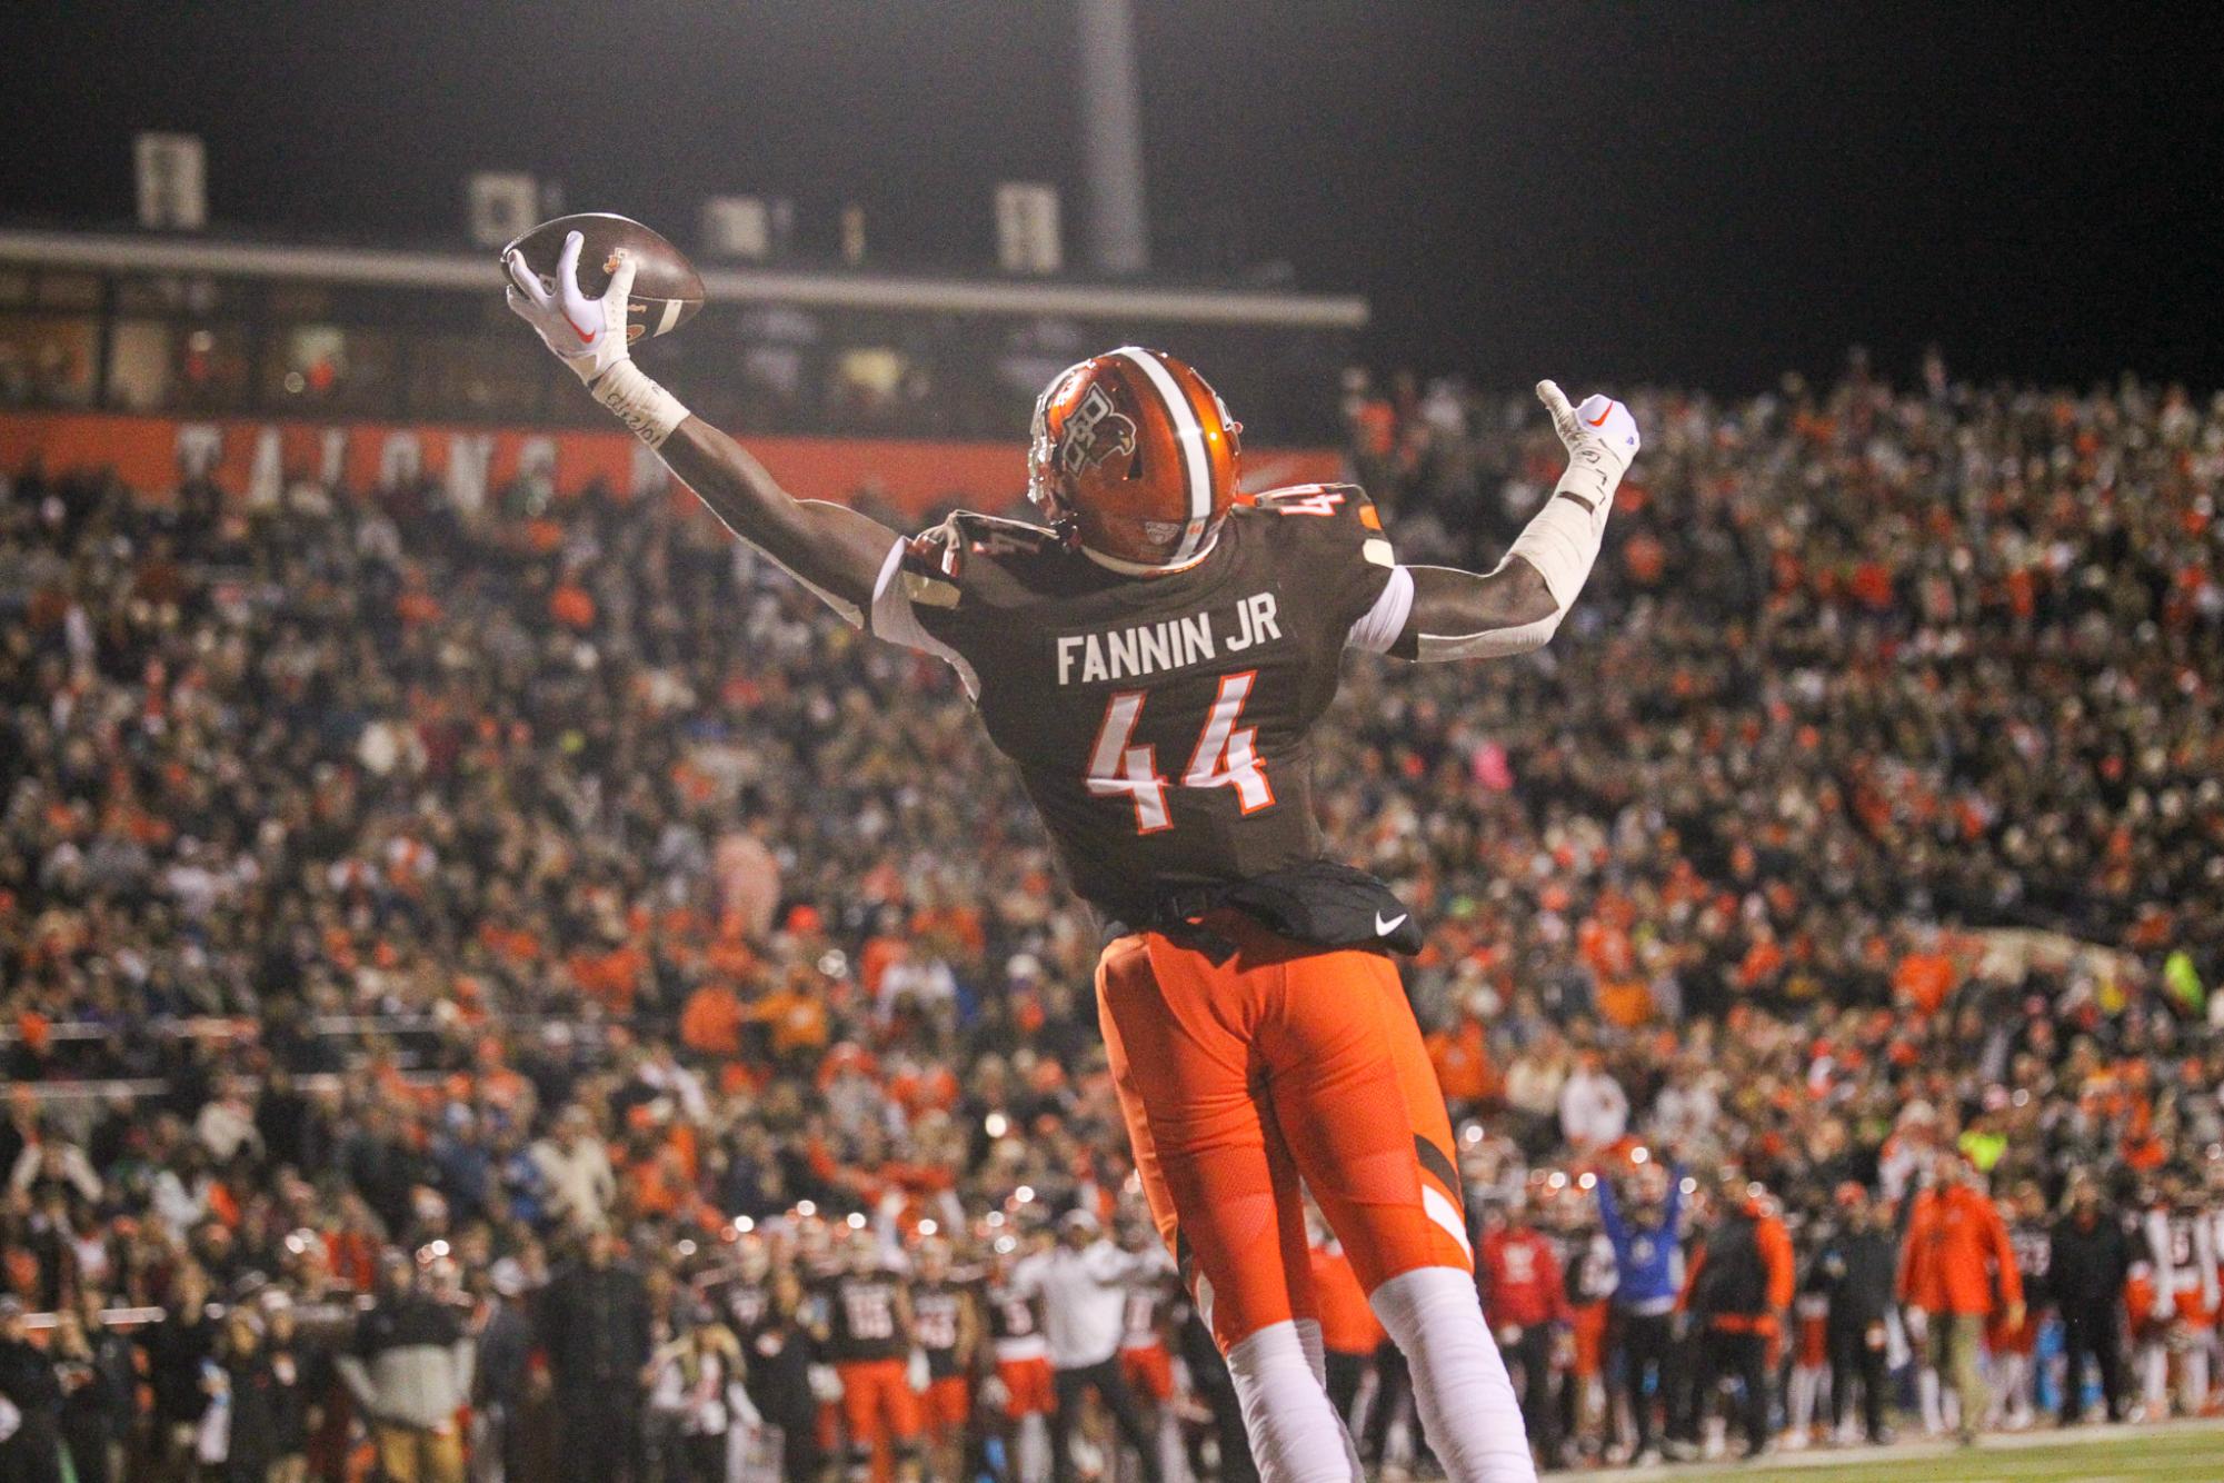
[[1059,371],[1034,400],[1027,498],[1116,571],[1185,567],[1234,505],[1241,431],[1203,376],[1123,345]]

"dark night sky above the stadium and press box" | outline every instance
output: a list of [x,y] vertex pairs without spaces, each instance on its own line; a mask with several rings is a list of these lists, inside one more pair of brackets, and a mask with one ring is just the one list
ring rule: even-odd
[[[1741,391],[1906,374],[2224,385],[2224,4],[1134,0],[1154,251],[1361,289],[1379,365]],[[160,24],[149,24],[160,16]],[[687,242],[712,191],[990,260],[1083,218],[1065,0],[9,7],[0,218],[118,222],[129,138],[222,225],[456,240],[471,167]]]

